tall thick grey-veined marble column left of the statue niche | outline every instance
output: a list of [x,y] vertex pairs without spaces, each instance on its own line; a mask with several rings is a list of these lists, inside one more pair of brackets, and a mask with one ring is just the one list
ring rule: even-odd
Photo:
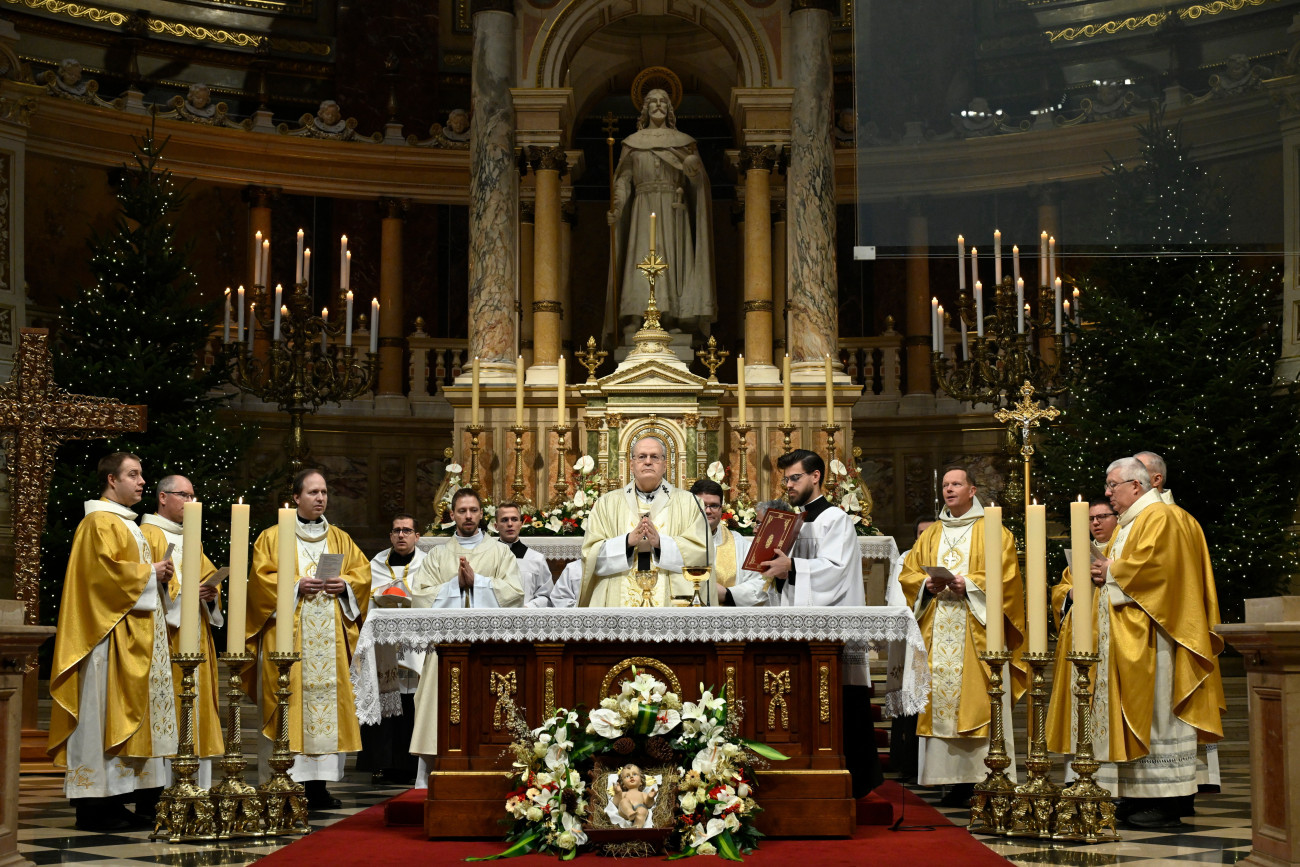
[[[515,378],[515,6],[472,0],[469,101],[469,355],[484,378]],[[464,374],[468,378],[468,370]]]

